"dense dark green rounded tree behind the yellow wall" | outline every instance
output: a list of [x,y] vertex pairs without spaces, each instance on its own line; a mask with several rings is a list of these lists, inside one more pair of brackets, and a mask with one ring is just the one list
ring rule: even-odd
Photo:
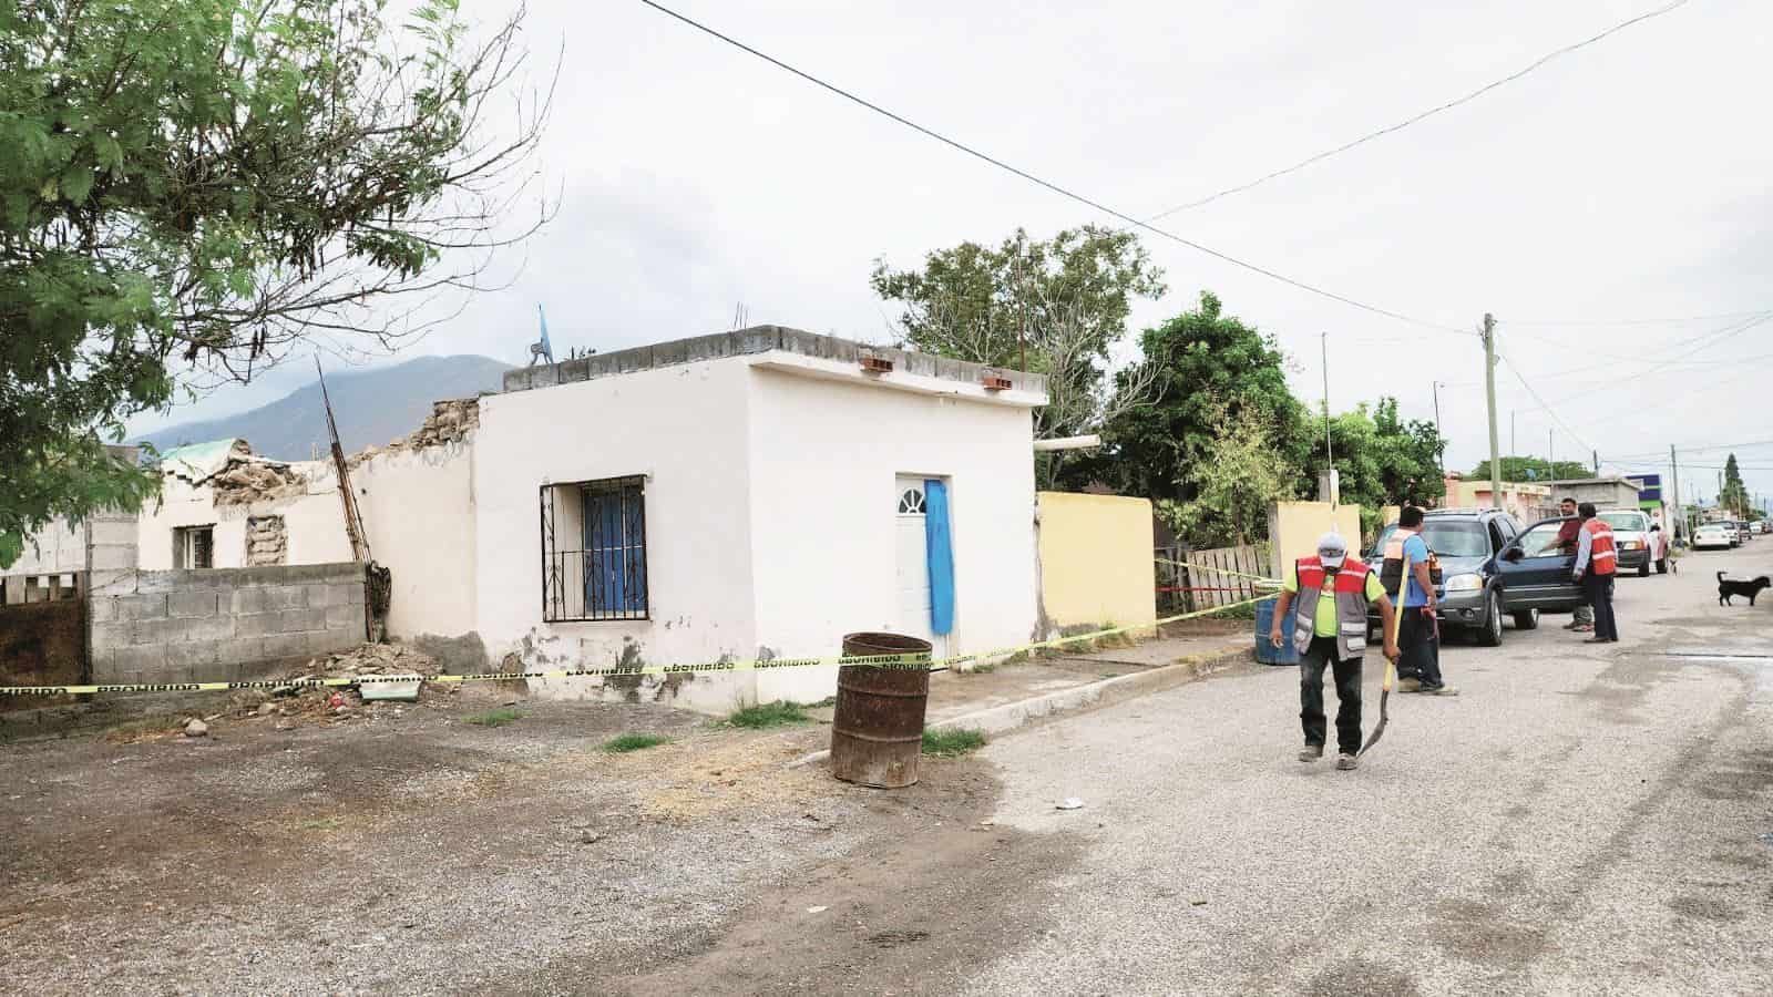
[[[1149,380],[1151,403],[1122,406],[1089,472],[1128,495],[1186,506],[1200,498],[1227,426],[1261,426],[1289,481],[1312,442],[1305,406],[1287,390],[1285,355],[1255,326],[1227,316],[1211,291],[1200,305],[1147,328],[1144,360],[1117,374],[1121,390]],[[1266,523],[1266,511],[1261,518]],[[1230,532],[1254,536],[1255,522]],[[1209,538],[1211,539],[1211,538]]]

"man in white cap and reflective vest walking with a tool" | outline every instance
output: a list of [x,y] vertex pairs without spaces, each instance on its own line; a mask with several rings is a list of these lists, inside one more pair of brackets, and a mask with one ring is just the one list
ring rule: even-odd
[[1305,727],[1305,749],[1300,761],[1317,761],[1324,756],[1328,729],[1324,727],[1324,669],[1335,676],[1335,766],[1349,772],[1360,754],[1360,658],[1367,651],[1367,603],[1379,603],[1385,626],[1385,656],[1397,658],[1392,644],[1392,600],[1378,575],[1360,561],[1347,557],[1347,541],[1324,534],[1317,541],[1317,557],[1301,557],[1293,566],[1293,577],[1284,582],[1280,601],[1275,603],[1275,623],[1268,640],[1285,646],[1280,621],[1287,617],[1293,601],[1300,612],[1293,624],[1293,648],[1300,653],[1300,724]]

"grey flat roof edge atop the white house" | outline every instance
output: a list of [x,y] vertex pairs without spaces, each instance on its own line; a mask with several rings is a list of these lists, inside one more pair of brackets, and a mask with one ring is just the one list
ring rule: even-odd
[[[798,353],[801,357],[846,364],[860,364],[862,357],[883,357],[894,362],[895,374],[917,374],[973,387],[977,387],[980,378],[989,371],[991,374],[1009,380],[1011,390],[1041,396],[1046,394],[1044,374],[1030,374],[1025,371],[1012,371],[1009,367],[989,367],[986,364],[972,364],[968,360],[950,360],[949,357],[936,357],[934,353],[917,353],[892,346],[869,346],[849,339],[839,339],[835,335],[819,335],[780,325],[755,325],[736,332],[716,332],[715,335],[676,339],[670,342],[656,342],[652,346],[617,349],[613,353],[592,353],[590,357],[562,360],[558,364],[518,367],[505,371],[504,389],[507,392],[521,392],[571,381],[587,381],[592,378],[633,374],[637,371],[672,367],[677,364],[720,360],[725,357],[752,357],[778,349],[784,353]],[[892,374],[886,376],[890,378]]]

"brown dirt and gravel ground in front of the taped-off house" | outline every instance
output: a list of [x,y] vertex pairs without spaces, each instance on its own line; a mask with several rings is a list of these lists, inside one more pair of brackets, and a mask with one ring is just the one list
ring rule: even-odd
[[1069,846],[984,825],[982,763],[885,793],[784,768],[821,726],[465,722],[507,697],[0,745],[0,992],[890,993],[1050,928]]

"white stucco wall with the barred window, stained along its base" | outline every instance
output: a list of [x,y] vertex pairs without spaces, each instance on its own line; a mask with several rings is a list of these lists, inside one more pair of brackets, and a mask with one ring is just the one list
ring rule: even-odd
[[[707,360],[480,399],[473,500],[479,633],[493,660],[605,667],[757,653],[746,490],[748,371]],[[544,623],[543,484],[647,475],[647,621]],[[574,545],[576,546],[576,545]],[[681,679],[679,679],[681,681]],[[658,692],[658,681],[644,687]],[[598,679],[532,681],[546,695],[615,695]],[[748,674],[695,676],[676,701],[729,710]]]

